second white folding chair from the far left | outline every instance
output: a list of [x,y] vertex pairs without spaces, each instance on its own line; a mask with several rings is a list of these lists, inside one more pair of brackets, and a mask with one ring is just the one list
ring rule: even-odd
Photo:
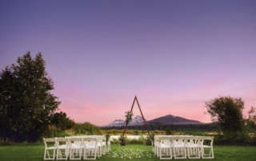
[[55,143],[57,145],[56,160],[67,160],[69,156],[69,138],[55,138]]

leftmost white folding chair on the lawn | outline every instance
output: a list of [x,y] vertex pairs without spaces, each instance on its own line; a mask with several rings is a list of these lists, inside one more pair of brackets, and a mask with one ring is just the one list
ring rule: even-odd
[[[43,142],[45,143],[45,154],[43,155],[44,160],[54,160],[55,159],[55,151],[56,144],[54,138],[43,138]],[[47,155],[47,156],[46,156]]]

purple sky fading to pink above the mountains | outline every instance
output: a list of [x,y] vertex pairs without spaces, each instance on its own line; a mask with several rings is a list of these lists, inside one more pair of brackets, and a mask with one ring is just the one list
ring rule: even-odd
[[[206,101],[256,106],[256,1],[0,1],[0,69],[42,53],[60,108],[76,122],[210,122]],[[134,116],[140,115],[138,106]]]

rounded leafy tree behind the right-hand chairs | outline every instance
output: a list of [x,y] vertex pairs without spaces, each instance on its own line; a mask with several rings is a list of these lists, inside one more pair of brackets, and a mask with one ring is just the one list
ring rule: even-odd
[[245,132],[245,122],[242,117],[244,102],[241,98],[220,96],[206,101],[205,107],[211,120],[218,124],[224,135],[233,137]]

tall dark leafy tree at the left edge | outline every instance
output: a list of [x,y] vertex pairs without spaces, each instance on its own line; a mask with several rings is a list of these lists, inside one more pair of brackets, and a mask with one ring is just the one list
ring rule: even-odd
[[54,82],[46,73],[46,62],[38,53],[18,57],[17,65],[0,73],[0,136],[22,142],[37,141],[47,132],[58,109],[58,97],[50,93]]

